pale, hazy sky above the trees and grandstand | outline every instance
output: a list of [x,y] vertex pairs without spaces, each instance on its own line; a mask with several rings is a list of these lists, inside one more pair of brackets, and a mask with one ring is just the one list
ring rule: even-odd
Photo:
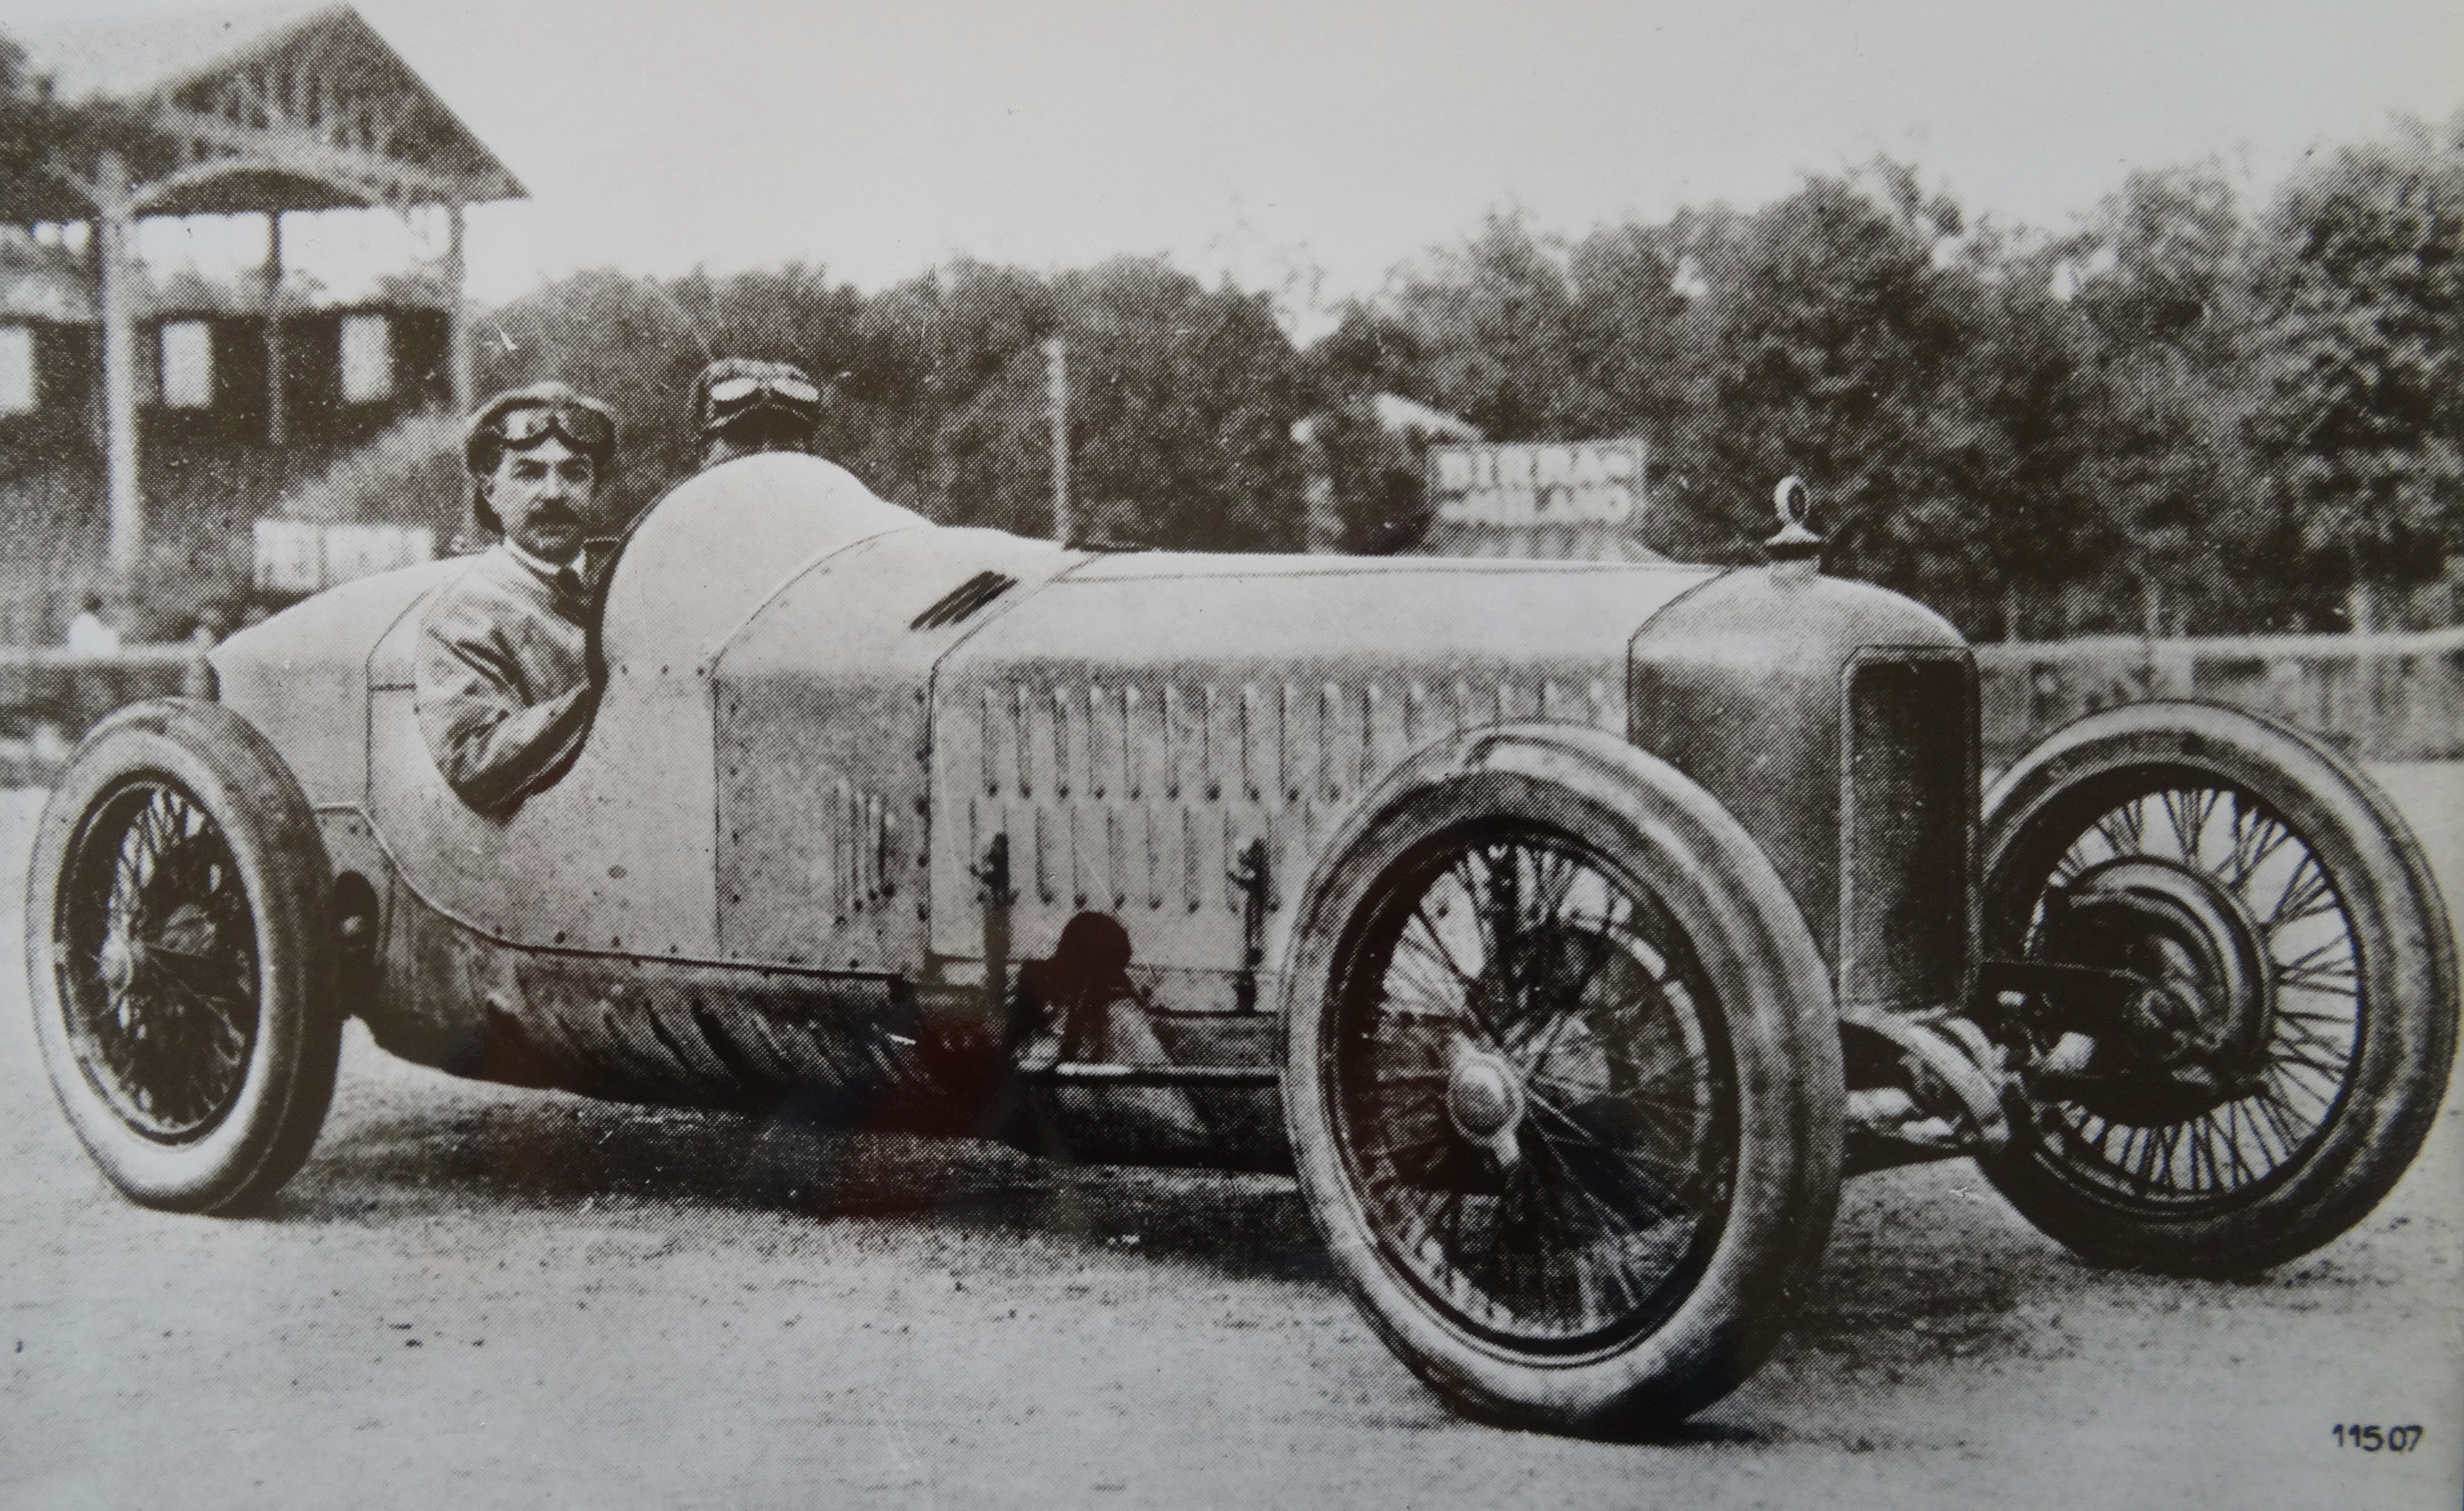
[[[182,0],[121,12],[200,10]],[[1582,234],[1754,207],[1890,153],[2067,229],[2131,168],[2304,153],[2464,108],[2457,0],[357,0],[530,200],[471,217],[471,291],[579,266],[788,259],[880,288],[968,254],[1163,254],[1308,311],[1491,210]],[[94,10],[103,10],[96,5]],[[0,27],[62,0],[0,0]],[[217,274],[256,224],[158,224]],[[291,217],[335,291],[441,224]]]

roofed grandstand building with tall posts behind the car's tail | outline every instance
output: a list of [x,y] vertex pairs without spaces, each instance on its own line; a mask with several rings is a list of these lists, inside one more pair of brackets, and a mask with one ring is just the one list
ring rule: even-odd
[[[111,126],[71,126],[47,173],[0,187],[0,641],[54,638],[89,589],[136,636],[185,633],[207,604],[330,579],[318,532],[338,525],[352,569],[444,540],[451,488],[335,518],[318,483],[468,404],[463,207],[522,185],[350,5],[5,39],[27,89]],[[286,279],[283,219],[342,207],[441,207],[446,254],[320,301]],[[264,264],[232,286],[150,276],[138,222],[187,214],[264,217]]]

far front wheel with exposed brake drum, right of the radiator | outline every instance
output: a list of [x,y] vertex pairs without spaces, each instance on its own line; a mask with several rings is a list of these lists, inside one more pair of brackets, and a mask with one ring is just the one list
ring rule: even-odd
[[2447,912],[2368,779],[2264,720],[2146,705],[2057,735],[1988,808],[1986,951],[2144,984],[2033,1045],[1996,1186],[2082,1255],[2168,1272],[2358,1223],[2454,1053]]

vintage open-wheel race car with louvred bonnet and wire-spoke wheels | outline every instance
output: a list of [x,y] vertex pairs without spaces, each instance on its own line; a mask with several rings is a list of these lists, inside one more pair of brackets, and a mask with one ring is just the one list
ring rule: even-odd
[[2457,1013],[2390,804],[2186,703],[1979,804],[1966,643],[1809,557],[1084,552],[732,461],[631,530],[510,816],[414,707],[461,560],[103,720],[34,848],[49,1077],[200,1213],[308,1156],[345,1016],[498,1082],[1289,1161],[1422,1380],[1584,1432],[1745,1380],[1848,1173],[1974,1156],[2176,1274],[2361,1220]]

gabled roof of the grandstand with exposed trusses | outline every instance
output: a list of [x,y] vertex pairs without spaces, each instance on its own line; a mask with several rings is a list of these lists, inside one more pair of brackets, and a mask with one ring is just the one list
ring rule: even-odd
[[[525,192],[350,5],[74,17],[17,22],[5,35],[52,99],[121,106],[145,121],[153,141],[136,165],[138,214]],[[5,200],[20,222],[91,214],[67,177],[10,185]]]

